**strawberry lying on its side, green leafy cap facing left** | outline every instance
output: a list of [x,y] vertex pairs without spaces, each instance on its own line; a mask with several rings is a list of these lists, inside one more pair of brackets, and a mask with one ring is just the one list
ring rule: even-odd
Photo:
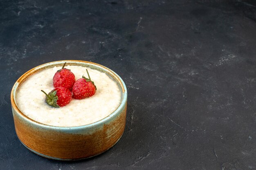
[[46,103],[52,107],[63,107],[70,103],[72,100],[72,94],[69,89],[65,87],[56,87],[51,92],[46,94],[43,90],[41,90],[46,95]]

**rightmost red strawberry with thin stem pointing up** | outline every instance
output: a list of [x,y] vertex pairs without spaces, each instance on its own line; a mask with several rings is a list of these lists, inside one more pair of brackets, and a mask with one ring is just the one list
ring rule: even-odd
[[97,88],[94,85],[94,82],[91,80],[88,70],[86,69],[89,78],[82,76],[83,78],[79,78],[73,86],[73,98],[75,99],[83,99],[91,97],[95,94]]

